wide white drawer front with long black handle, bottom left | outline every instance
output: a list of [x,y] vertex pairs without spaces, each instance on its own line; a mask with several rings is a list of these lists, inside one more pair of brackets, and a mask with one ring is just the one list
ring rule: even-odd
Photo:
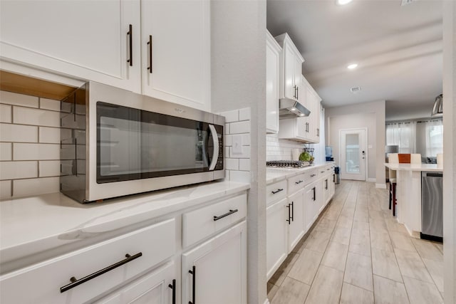
[[[125,260],[142,256],[74,288],[61,287]],[[0,303],[84,303],[175,254],[175,219],[103,241],[0,277]]]

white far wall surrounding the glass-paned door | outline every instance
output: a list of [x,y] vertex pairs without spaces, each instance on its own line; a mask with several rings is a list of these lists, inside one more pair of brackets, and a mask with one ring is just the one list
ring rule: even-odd
[[376,187],[385,187],[385,100],[326,108],[325,115],[326,145],[333,147],[339,165],[339,131],[368,128],[368,178],[375,179]]

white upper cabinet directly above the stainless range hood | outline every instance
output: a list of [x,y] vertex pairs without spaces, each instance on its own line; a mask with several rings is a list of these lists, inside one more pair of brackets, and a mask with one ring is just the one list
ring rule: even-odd
[[301,53],[299,53],[287,33],[275,38],[284,50],[281,52],[280,57],[279,97],[299,100],[304,58],[302,58]]

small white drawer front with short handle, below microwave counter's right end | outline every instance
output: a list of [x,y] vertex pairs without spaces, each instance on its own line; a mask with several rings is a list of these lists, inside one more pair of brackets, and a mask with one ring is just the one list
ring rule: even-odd
[[[237,210],[237,211],[236,211]],[[182,246],[187,247],[247,215],[247,194],[182,215]]]

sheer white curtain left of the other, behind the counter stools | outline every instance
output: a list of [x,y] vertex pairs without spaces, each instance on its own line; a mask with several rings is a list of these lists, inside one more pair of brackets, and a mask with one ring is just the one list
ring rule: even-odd
[[394,122],[387,124],[386,145],[398,145],[399,153],[415,153],[416,122]]

